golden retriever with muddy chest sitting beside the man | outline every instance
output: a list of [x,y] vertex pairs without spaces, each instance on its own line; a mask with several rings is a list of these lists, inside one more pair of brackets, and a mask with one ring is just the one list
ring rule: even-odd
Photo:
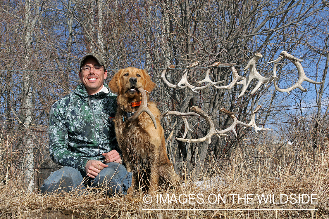
[[133,173],[128,194],[139,188],[154,192],[160,184],[175,185],[180,182],[166,153],[160,111],[156,103],[149,101],[148,94],[147,107],[155,117],[157,128],[146,112],[134,121],[127,120],[131,112],[139,108],[141,92],[138,89],[151,92],[154,87],[155,83],[145,70],[132,67],[120,69],[109,83],[109,88],[118,94],[114,120],[116,139],[123,162],[127,170]]

